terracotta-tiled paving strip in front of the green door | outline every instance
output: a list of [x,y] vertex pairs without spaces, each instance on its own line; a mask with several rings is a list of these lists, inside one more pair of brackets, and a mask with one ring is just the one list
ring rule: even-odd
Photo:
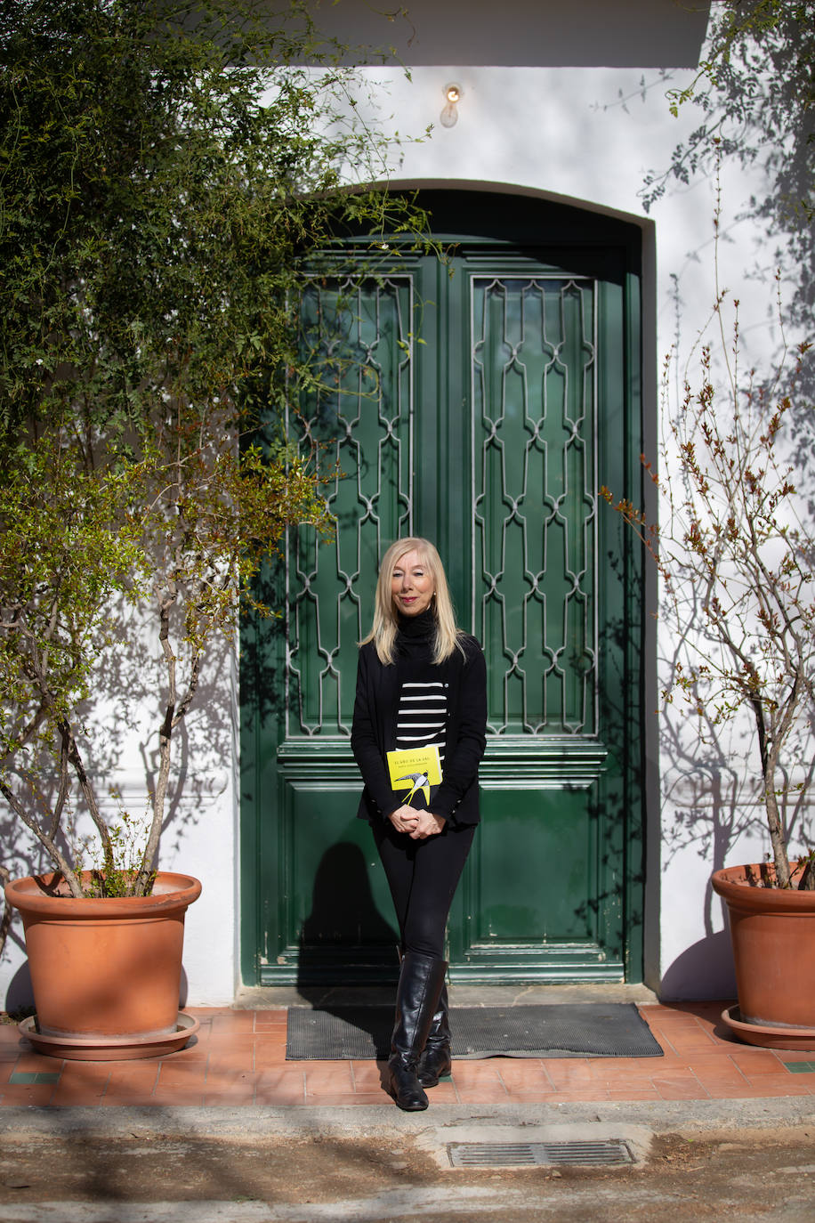
[[[815,1051],[736,1043],[726,1002],[640,1005],[662,1058],[489,1058],[456,1062],[431,1104],[571,1104],[815,1097]],[[286,1008],[186,1008],[200,1021],[178,1053],[134,1062],[62,1062],[0,1025],[0,1106],[381,1106],[375,1062],[287,1062]],[[813,1108],[815,1109],[815,1099]],[[804,1103],[804,1101],[799,1101]]]

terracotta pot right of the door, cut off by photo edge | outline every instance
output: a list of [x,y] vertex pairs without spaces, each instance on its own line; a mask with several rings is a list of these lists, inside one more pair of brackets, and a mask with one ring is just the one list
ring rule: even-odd
[[722,1016],[740,1040],[815,1048],[815,893],[762,887],[766,863],[715,871],[727,903],[738,1011]]

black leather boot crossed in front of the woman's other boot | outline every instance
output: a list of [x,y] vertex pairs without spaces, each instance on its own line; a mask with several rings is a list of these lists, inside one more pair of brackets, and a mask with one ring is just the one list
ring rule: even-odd
[[430,955],[408,951],[402,960],[387,1068],[391,1095],[407,1113],[428,1107],[417,1071],[446,971],[446,961]]

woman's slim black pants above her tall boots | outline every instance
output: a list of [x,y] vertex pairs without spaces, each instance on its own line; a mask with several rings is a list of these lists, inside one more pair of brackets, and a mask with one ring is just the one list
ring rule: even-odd
[[475,835],[475,824],[446,823],[437,837],[411,840],[390,819],[373,824],[376,849],[385,868],[402,951],[445,958],[445,929],[450,906]]

